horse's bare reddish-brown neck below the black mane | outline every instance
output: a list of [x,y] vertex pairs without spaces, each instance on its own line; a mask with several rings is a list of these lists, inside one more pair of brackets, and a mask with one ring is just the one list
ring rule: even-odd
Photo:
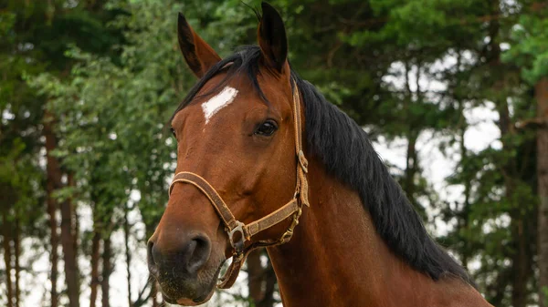
[[474,303],[483,301],[464,282],[432,281],[396,257],[358,194],[318,162],[311,161],[308,178],[311,208],[303,209],[289,243],[269,248],[285,307],[459,306],[452,302],[469,303],[472,296]]

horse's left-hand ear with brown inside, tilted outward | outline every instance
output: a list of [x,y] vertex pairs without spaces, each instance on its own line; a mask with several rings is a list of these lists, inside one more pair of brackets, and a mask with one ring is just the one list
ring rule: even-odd
[[198,36],[192,29],[184,15],[179,13],[177,20],[177,38],[186,64],[195,73],[196,77],[203,77],[209,68],[221,60],[213,48]]

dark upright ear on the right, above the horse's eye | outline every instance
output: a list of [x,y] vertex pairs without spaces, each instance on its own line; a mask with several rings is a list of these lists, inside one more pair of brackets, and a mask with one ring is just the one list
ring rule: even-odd
[[262,17],[258,24],[258,46],[266,64],[282,72],[288,58],[288,38],[278,11],[263,2]]

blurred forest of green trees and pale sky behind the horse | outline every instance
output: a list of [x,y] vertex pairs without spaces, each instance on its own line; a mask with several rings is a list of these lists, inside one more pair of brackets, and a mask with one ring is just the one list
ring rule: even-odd
[[[292,66],[370,134],[489,302],[547,306],[548,2],[270,4]],[[221,56],[256,44],[239,0],[0,0],[1,306],[163,304],[145,242],[174,174],[165,124],[195,83],[177,12]],[[280,305],[264,251],[208,303]]]

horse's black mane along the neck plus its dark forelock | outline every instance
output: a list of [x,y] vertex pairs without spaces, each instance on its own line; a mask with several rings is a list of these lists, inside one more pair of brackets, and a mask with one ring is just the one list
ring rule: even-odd
[[[227,78],[218,87],[229,78],[245,73],[267,101],[258,87],[259,57],[258,46],[243,46],[217,63],[190,90],[175,114],[190,103],[211,77],[225,70]],[[232,65],[224,68],[228,63]],[[291,77],[297,82],[304,103],[305,134],[311,154],[321,159],[328,173],[359,192],[364,209],[369,210],[377,232],[388,247],[411,267],[434,280],[454,276],[471,283],[467,272],[427,234],[420,217],[388,173],[364,129],[292,70]]]

